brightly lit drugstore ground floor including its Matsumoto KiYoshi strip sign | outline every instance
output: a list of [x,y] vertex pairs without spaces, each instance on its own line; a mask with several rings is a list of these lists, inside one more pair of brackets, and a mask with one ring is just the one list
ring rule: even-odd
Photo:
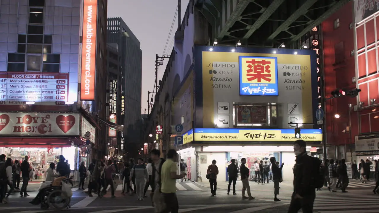
[[[307,142],[307,151],[315,155],[322,147],[322,132],[319,129],[301,129],[301,138]],[[294,129],[248,129],[248,128],[195,128],[183,134],[183,149],[180,157],[188,166],[191,180],[205,181],[205,174],[212,160],[219,167],[219,181],[227,181],[227,166],[231,159],[238,165],[246,158],[246,166],[252,168],[255,161],[275,157],[284,162],[283,180],[293,180],[292,168]],[[225,168],[225,169],[220,169]],[[252,169],[254,173],[254,169]]]

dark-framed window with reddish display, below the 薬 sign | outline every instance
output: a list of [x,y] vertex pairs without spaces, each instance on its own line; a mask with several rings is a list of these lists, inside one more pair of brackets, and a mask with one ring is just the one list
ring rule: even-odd
[[[234,105],[234,125],[235,126],[277,126],[277,108],[273,103],[257,105]],[[229,116],[227,116],[229,117]],[[220,122],[225,118],[218,116]],[[219,127],[223,127],[218,125]]]

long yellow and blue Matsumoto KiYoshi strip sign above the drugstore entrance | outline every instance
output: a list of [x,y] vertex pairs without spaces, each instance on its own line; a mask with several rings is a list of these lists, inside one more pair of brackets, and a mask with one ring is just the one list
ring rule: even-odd
[[[301,129],[304,141],[322,141],[320,129]],[[195,128],[195,141],[296,141],[294,129]]]

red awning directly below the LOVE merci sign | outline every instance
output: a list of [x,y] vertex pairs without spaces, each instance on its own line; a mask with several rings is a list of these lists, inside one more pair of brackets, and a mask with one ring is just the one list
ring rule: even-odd
[[70,147],[71,144],[72,140],[70,138],[0,138],[0,147],[61,148]]

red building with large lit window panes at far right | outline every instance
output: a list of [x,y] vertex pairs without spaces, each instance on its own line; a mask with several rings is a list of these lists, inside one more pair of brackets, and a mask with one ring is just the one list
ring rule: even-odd
[[[328,158],[349,161],[352,155],[353,160],[357,160],[356,139],[368,135],[375,138],[374,133],[379,132],[376,104],[379,100],[379,17],[376,8],[354,6],[351,1],[323,22],[326,98],[331,97],[335,89],[361,89],[356,98],[346,96],[326,102],[327,143],[332,144]],[[340,117],[336,118],[335,114]]]

